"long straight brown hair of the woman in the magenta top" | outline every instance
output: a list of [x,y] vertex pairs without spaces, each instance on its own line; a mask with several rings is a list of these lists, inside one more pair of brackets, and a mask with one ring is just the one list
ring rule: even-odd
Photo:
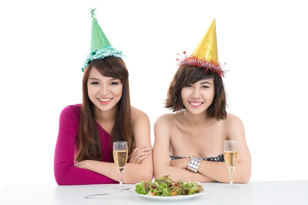
[[[123,91],[121,99],[116,105],[117,114],[115,115],[115,123],[111,135],[112,141],[127,141],[128,155],[130,156],[132,152],[133,137],[131,131],[128,71],[124,61],[121,58],[108,56],[103,59],[95,59],[91,61],[83,76],[81,119],[79,134],[76,140],[78,152],[75,160],[83,161],[86,159],[91,159],[100,161],[102,159],[101,140],[95,120],[94,104],[88,96],[87,86],[89,73],[93,67],[98,69],[98,71],[106,77],[113,77],[121,80]],[[112,160],[113,159],[111,157],[111,161]]]

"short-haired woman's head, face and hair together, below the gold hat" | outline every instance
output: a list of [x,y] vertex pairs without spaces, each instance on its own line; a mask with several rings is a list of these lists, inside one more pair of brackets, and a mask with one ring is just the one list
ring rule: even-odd
[[226,93],[222,77],[200,67],[179,67],[171,80],[164,106],[178,112],[204,113],[207,118],[226,118]]

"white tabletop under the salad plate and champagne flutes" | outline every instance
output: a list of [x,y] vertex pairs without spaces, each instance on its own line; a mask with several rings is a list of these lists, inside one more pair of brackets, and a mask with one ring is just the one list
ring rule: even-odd
[[[305,204],[308,205],[308,180],[258,181],[238,184],[240,189],[227,190],[225,183],[203,183],[207,194],[180,201],[145,199],[131,192],[84,199],[85,196],[114,192],[117,185],[82,186],[7,186],[0,193],[0,204]],[[125,185],[134,188],[134,185]]]

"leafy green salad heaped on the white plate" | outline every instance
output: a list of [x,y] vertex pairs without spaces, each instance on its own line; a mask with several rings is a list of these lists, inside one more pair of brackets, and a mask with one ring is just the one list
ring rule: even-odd
[[185,182],[172,181],[169,175],[155,178],[153,181],[141,181],[136,185],[138,194],[149,196],[177,196],[191,195],[203,191],[203,186],[196,182],[187,180]]

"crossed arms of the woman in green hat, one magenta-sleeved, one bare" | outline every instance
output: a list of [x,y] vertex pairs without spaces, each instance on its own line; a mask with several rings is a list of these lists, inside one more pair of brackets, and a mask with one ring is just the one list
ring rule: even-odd
[[[78,130],[69,108],[63,110],[60,116],[59,136],[57,138],[54,156],[54,176],[58,185],[88,185],[95,183],[116,183],[120,174],[114,163],[94,160],[84,160],[74,165],[74,140]],[[147,115],[141,113],[133,125],[135,146],[151,148],[150,125]],[[132,159],[123,172],[123,183],[136,183],[141,180],[152,180],[153,165],[151,151],[146,148],[136,149],[134,155],[140,156],[140,151],[148,155]],[[139,151],[138,151],[139,150]],[[141,160],[140,160],[141,159]]]

